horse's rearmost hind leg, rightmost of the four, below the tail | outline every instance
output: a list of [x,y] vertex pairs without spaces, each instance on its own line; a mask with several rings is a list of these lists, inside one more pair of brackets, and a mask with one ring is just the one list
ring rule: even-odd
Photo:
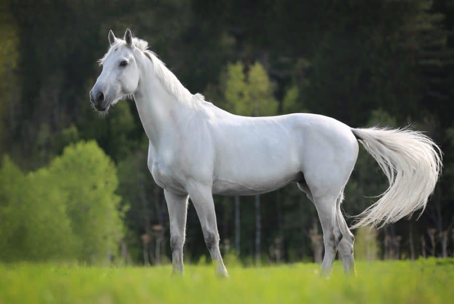
[[341,232],[343,234],[343,238],[337,249],[339,250],[339,255],[341,255],[342,263],[344,264],[344,272],[346,274],[354,273],[356,274],[355,270],[355,259],[353,256],[353,243],[355,242],[355,237],[353,236],[352,232],[345,221],[344,215],[341,212],[341,203],[344,198],[343,193],[339,195],[336,201],[336,215],[337,221],[341,226]]

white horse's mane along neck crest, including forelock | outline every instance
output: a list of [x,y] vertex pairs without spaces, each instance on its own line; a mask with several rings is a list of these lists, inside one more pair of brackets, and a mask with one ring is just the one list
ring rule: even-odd
[[[102,61],[110,53],[111,49],[115,49],[115,47],[125,44],[126,41],[117,39],[117,42],[110,46],[104,57],[99,59],[99,63],[102,63]],[[132,44],[150,59],[151,63],[153,64],[153,69],[156,77],[159,79],[162,86],[168,93],[175,96],[175,98],[179,102],[190,108],[196,109],[200,107],[201,102],[205,101],[205,97],[200,93],[191,94],[191,92],[189,92],[189,90],[182,85],[175,74],[165,66],[165,63],[162,62],[154,52],[148,49],[147,41],[133,37]]]

